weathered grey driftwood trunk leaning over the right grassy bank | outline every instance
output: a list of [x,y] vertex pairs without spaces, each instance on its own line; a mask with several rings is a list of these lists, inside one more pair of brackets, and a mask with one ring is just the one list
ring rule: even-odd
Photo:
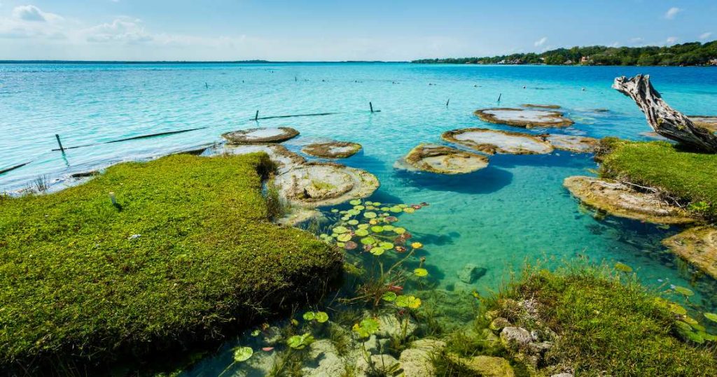
[[617,77],[613,89],[632,98],[647,117],[652,130],[701,151],[717,153],[717,135],[695,125],[690,118],[670,107],[650,84],[650,75]]

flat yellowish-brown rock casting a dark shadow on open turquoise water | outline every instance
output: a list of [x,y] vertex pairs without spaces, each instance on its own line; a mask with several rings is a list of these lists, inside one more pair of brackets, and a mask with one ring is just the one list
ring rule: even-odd
[[403,161],[409,168],[439,174],[465,174],[488,166],[488,157],[437,144],[420,144]]

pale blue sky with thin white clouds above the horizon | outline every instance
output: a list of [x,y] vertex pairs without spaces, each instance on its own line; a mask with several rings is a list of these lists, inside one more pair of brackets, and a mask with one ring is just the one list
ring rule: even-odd
[[0,59],[404,61],[717,39],[717,0],[0,0]]

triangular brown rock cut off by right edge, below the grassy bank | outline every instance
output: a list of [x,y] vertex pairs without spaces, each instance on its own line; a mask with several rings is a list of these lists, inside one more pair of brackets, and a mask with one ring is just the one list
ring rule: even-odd
[[707,275],[717,279],[717,228],[696,226],[663,240],[663,244]]

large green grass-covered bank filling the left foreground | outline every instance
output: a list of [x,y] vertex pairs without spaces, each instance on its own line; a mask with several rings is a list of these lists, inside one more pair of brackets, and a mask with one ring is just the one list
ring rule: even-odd
[[176,155],[4,199],[0,371],[176,350],[318,294],[341,254],[268,220],[268,166]]

